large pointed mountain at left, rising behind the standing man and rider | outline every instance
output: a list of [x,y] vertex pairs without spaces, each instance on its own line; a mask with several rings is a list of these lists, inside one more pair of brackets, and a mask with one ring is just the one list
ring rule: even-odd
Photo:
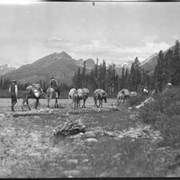
[[39,80],[47,80],[54,76],[60,83],[72,84],[72,77],[78,68],[83,67],[83,62],[87,61],[87,71],[94,67],[91,59],[78,62],[65,51],[52,53],[44,56],[37,61],[26,64],[15,71],[3,74],[1,77],[16,79],[21,83],[32,83]]

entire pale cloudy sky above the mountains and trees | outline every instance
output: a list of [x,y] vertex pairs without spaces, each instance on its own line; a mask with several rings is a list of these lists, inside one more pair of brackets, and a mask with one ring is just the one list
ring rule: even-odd
[[180,39],[179,17],[180,2],[0,1],[0,65],[62,51],[74,59],[142,61]]

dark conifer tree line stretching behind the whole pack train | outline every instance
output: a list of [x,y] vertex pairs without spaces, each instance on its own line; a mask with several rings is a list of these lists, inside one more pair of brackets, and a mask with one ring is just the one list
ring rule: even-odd
[[[175,86],[180,84],[180,43],[178,40],[175,42],[175,46],[167,52],[159,51],[157,65],[153,72],[145,71],[141,67],[138,57],[136,57],[130,69],[125,66],[122,67],[122,73],[119,76],[115,64],[107,66],[105,60],[99,63],[97,58],[92,70],[86,68],[86,62],[84,61],[83,67],[78,68],[75,72],[72,85],[68,86],[62,83],[61,86],[63,91],[69,91],[72,87],[86,87],[91,92],[97,88],[102,88],[108,94],[113,94],[123,88],[131,91],[141,91],[143,87],[161,92],[168,82]],[[40,80],[40,84],[43,89],[47,89],[49,82]],[[9,85],[10,78],[0,79],[0,89],[8,89]],[[21,84],[18,82],[20,90],[25,90],[27,86],[28,83]]]

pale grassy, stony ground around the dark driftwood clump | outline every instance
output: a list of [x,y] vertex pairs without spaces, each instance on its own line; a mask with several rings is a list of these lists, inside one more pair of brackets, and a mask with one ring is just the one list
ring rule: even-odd
[[[16,111],[21,111],[21,101]],[[52,108],[54,114],[13,117],[10,99],[1,99],[0,177],[179,176],[178,145],[159,146],[161,134],[155,136],[159,131],[148,129],[137,110],[121,105],[118,111],[103,111],[113,107],[114,102],[108,99],[98,111],[89,98],[89,113],[85,113],[82,109],[71,110],[70,101],[61,99],[61,108]],[[33,107],[34,101],[30,103]],[[40,103],[39,109],[46,107],[44,99]],[[57,126],[76,120],[86,126],[85,134],[65,138],[52,135]]]

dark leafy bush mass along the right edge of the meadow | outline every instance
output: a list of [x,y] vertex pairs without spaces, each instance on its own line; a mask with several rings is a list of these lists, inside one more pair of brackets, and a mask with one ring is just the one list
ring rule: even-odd
[[162,134],[160,145],[171,145],[180,140],[180,88],[173,87],[156,95],[155,102],[146,104],[139,117]]

